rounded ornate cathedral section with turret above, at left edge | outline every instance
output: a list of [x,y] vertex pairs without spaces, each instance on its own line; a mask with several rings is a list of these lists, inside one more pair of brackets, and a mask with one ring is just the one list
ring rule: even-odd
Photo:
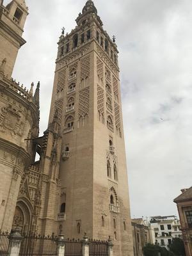
[[31,139],[38,136],[38,88],[33,97],[33,84],[28,91],[11,78],[17,52],[25,43],[21,36],[27,15],[24,0],[13,0],[6,7],[0,1],[0,230],[8,231],[16,204],[24,205],[29,192],[20,188],[20,182],[35,160]]

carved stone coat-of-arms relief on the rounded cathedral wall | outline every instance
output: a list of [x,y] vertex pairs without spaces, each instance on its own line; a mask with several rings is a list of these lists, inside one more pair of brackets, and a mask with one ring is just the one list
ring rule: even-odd
[[20,113],[12,106],[1,109],[0,115],[0,131],[4,132],[6,129],[11,131],[12,136],[15,134],[21,135],[23,123],[20,122]]

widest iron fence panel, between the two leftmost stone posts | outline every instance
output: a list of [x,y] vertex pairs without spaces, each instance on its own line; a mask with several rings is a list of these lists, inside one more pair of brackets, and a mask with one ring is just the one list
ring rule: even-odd
[[20,244],[19,256],[56,256],[57,246],[54,236],[24,236]]

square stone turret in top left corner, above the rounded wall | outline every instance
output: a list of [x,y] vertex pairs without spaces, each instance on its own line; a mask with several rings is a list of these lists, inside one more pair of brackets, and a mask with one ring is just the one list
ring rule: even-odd
[[6,76],[12,76],[17,53],[26,41],[22,38],[28,7],[24,0],[13,0],[7,6],[0,2],[0,63],[6,58]]

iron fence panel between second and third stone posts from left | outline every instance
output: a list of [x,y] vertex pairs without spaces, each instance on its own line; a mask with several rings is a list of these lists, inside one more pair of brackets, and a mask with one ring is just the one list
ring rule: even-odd
[[82,256],[82,242],[68,239],[65,241],[65,256]]

